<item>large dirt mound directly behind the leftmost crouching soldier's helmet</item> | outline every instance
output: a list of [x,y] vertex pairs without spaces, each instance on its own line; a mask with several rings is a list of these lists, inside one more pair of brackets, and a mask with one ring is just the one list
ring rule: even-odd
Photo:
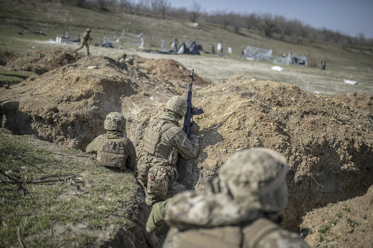
[[[97,66],[98,69],[88,69]],[[105,133],[109,112],[122,112],[128,134],[141,142],[151,118],[177,91],[108,57],[83,57],[76,63],[31,76],[12,89],[0,89],[0,120],[16,134],[37,134],[62,146],[84,149]]]

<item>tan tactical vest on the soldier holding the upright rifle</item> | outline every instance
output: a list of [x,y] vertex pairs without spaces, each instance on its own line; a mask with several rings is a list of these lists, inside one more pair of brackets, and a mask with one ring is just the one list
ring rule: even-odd
[[[163,122],[161,127],[157,127],[157,123]],[[156,119],[151,123],[148,130],[148,135],[145,138],[144,150],[157,158],[168,159],[172,145],[168,140],[160,143],[162,134],[169,130],[171,127],[176,126],[171,121]]]

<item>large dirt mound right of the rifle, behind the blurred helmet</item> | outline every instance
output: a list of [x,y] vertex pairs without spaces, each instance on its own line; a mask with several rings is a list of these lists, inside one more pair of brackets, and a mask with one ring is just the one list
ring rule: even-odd
[[[372,115],[297,86],[235,76],[194,94],[205,109],[197,159],[182,160],[189,188],[218,174],[238,150],[275,149],[289,160],[286,229],[296,230],[304,212],[356,197],[373,184]],[[357,183],[358,182],[358,183]]]

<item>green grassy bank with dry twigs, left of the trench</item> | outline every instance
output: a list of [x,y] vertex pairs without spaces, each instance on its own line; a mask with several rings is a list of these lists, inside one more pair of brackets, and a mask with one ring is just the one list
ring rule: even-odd
[[[95,231],[113,225],[133,228],[131,214],[140,199],[131,174],[115,174],[78,150],[51,150],[30,143],[30,136],[12,136],[0,129],[0,169],[12,171],[17,180],[32,180],[54,174],[81,174],[81,180],[44,184],[0,183],[0,247],[18,242],[17,228],[26,247],[54,247],[59,242],[87,246]],[[87,162],[88,160],[88,162]],[[22,169],[21,167],[27,167]],[[6,181],[0,175],[0,181]],[[83,223],[91,233],[74,232],[51,239],[50,228]],[[43,233],[46,234],[43,234]],[[114,234],[114,233],[113,233]],[[40,237],[41,235],[41,237]]]

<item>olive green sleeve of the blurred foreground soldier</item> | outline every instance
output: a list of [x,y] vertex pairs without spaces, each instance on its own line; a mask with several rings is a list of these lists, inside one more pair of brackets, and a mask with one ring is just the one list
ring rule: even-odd
[[151,209],[146,227],[150,232],[158,232],[162,229],[164,222],[166,222],[166,210],[172,198],[168,198],[165,201],[156,203]]

